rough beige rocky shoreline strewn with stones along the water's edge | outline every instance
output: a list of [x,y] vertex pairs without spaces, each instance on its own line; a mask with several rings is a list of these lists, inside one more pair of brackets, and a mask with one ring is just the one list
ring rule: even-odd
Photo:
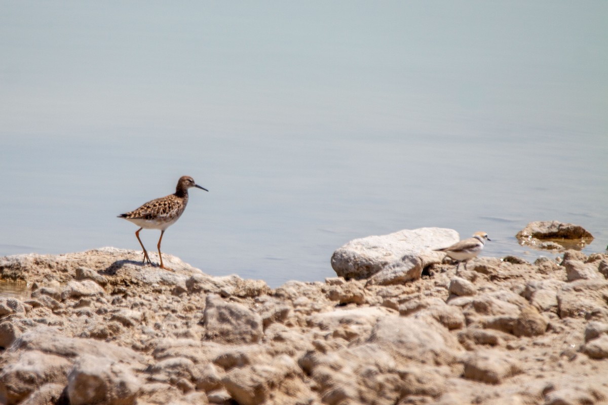
[[0,257],[32,287],[0,298],[0,403],[608,403],[608,254],[457,270],[438,233],[347,244],[348,279],[274,290],[168,254],[174,272],[117,248]]

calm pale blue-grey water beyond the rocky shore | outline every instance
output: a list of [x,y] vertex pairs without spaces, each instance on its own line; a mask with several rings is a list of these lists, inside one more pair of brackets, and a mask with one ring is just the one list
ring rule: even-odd
[[421,226],[604,251],[607,4],[2,2],[0,255],[139,249],[117,214],[184,174],[162,250],[272,287]]

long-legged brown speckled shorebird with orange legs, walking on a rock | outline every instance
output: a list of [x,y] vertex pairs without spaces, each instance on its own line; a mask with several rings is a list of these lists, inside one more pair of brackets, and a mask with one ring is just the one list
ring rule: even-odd
[[182,176],[178,180],[178,186],[175,189],[175,194],[169,194],[166,197],[148,201],[136,210],[126,214],[120,214],[118,216],[119,218],[124,218],[140,227],[136,231],[135,236],[137,236],[137,240],[139,240],[139,244],[142,246],[143,249],[142,263],[145,263],[146,260],[148,260],[148,263],[152,264],[152,262],[150,261],[150,257],[148,257],[148,252],[146,251],[146,248],[143,247],[142,240],[139,239],[139,231],[144,228],[157,229],[161,230],[161,238],[158,240],[157,245],[158,257],[161,258],[161,268],[164,268],[165,270],[171,270],[170,268],[167,268],[162,264],[162,235],[165,233],[165,230],[169,226],[177,222],[179,217],[181,217],[181,215],[184,213],[184,209],[186,208],[186,204],[188,203],[188,188],[191,187],[196,187],[205,191],[209,191],[208,189],[197,185],[194,182],[194,179],[192,179],[192,177]]

